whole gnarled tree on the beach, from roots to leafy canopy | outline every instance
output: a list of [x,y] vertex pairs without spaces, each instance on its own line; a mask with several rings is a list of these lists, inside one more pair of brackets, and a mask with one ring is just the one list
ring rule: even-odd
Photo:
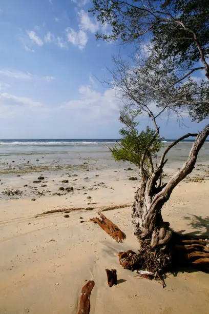
[[[185,134],[171,143],[154,165],[161,146],[158,118],[166,112],[178,116],[189,113],[193,121],[209,114],[208,17],[206,1],[119,1],[94,0],[91,10],[112,33],[97,34],[103,40],[123,43],[146,41],[147,54],[129,65],[115,58],[109,85],[119,91],[124,102],[120,121],[124,127],[119,146],[112,149],[116,160],[129,160],[139,166],[141,183],[135,194],[132,222],[140,241],[138,253],[122,254],[124,267],[146,267],[162,271],[173,259],[208,267],[208,241],[191,239],[171,230],[161,209],[173,189],[192,172],[199,150],[209,135],[209,125],[198,134]],[[134,61],[134,62],[133,62]],[[204,71],[206,79],[195,78]],[[199,75],[199,74],[198,74]],[[138,117],[147,114],[154,129],[138,132]],[[189,157],[170,180],[162,183],[166,154],[180,141],[195,137]]]

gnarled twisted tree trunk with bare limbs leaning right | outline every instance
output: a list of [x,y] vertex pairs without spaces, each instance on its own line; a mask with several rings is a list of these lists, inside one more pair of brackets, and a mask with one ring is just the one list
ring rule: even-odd
[[[189,157],[182,168],[169,180],[167,184],[157,186],[163,166],[166,153],[179,141],[189,136],[197,134],[186,134],[182,138],[172,143],[162,154],[160,163],[153,174],[149,177],[142,176],[141,186],[135,195],[133,205],[133,228],[134,233],[141,243],[141,249],[144,245],[148,250],[161,252],[164,250],[168,263],[174,255],[180,256],[182,261],[191,261],[193,264],[209,265],[209,242],[188,239],[177,235],[169,228],[169,223],[164,222],[161,216],[161,209],[176,185],[182,181],[186,175],[192,172],[198,152],[209,135],[209,125],[207,125],[196,137]],[[169,249],[169,252],[168,252]],[[140,252],[139,252],[140,254]],[[163,262],[164,263],[164,262]],[[158,265],[159,268],[161,265]]]

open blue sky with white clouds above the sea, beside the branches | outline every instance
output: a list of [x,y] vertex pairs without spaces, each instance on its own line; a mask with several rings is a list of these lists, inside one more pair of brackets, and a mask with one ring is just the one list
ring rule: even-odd
[[[118,138],[119,100],[97,78],[107,78],[113,54],[131,48],[96,41],[89,7],[91,0],[0,1],[1,139]],[[205,125],[184,123],[161,120],[161,134]]]

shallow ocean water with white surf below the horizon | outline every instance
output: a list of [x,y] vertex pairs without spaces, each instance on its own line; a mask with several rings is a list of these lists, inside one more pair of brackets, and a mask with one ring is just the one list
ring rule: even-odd
[[[116,145],[117,139],[24,139],[0,140],[0,173],[27,172],[38,169],[56,170],[69,166],[78,166],[89,162],[98,169],[124,167],[115,162],[107,146]],[[174,140],[164,141],[164,147]],[[177,167],[186,161],[193,140],[178,143],[168,154],[167,166]],[[164,148],[163,148],[164,149]],[[160,153],[162,150],[158,153]],[[197,163],[209,160],[209,141],[204,143],[198,155]],[[209,163],[209,162],[208,162]],[[129,163],[126,163],[128,165]]]

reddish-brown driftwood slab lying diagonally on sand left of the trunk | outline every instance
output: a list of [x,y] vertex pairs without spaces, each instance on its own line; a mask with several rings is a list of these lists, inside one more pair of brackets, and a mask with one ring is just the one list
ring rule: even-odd
[[120,241],[122,243],[122,240],[126,239],[126,234],[101,212],[99,212],[99,216],[100,218],[95,217],[91,218],[90,220],[98,224],[111,236],[111,238],[115,239],[116,242]]

